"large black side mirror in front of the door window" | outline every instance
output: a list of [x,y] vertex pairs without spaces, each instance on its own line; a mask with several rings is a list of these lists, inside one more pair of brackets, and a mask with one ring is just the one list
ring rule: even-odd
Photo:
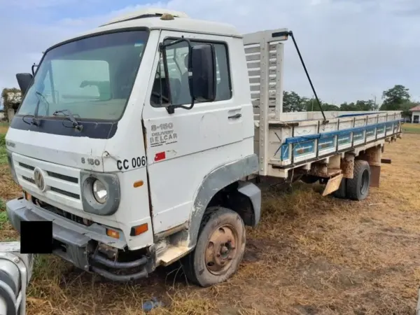
[[194,45],[190,50],[191,97],[198,102],[213,102],[216,99],[216,51],[214,45]]

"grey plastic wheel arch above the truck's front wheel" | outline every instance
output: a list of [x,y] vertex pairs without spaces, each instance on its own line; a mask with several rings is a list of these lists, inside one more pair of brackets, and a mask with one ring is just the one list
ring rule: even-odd
[[[258,157],[253,154],[217,167],[204,177],[195,194],[193,209],[190,214],[190,226],[188,229],[189,247],[195,246],[197,242],[200,225],[206,209],[209,206],[222,206],[223,204],[218,204],[218,199],[231,193],[238,194],[243,200],[250,202],[253,212],[251,225],[258,223],[261,204],[260,189],[253,183],[241,181],[244,177],[255,172],[258,172]],[[226,206],[226,204],[224,205]],[[238,209],[232,210],[238,211]],[[239,214],[242,216],[241,213]]]

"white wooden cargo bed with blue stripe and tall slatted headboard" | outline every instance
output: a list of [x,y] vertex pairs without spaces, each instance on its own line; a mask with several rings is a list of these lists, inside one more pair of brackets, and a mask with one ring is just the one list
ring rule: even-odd
[[283,43],[287,29],[244,35],[251,101],[254,151],[259,175],[287,178],[297,167],[346,154],[382,148],[401,133],[401,111],[325,111],[283,113]]

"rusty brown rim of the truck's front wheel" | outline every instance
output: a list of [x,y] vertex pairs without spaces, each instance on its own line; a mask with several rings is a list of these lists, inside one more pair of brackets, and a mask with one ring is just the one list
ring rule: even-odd
[[206,249],[206,266],[212,274],[223,274],[237,253],[238,233],[232,225],[222,225],[213,232]]

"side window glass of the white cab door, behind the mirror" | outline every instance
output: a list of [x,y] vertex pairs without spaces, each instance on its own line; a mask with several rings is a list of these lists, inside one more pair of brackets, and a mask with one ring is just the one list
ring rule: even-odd
[[[165,39],[165,43],[175,39]],[[203,43],[191,41],[191,45]],[[216,99],[222,101],[232,97],[230,72],[228,64],[228,48],[224,43],[213,43],[216,50]],[[151,95],[151,105],[154,107],[191,104],[190,87],[188,84],[188,44],[181,41],[167,48],[167,73],[163,58],[160,57],[158,71]],[[162,102],[161,102],[162,99]]]

